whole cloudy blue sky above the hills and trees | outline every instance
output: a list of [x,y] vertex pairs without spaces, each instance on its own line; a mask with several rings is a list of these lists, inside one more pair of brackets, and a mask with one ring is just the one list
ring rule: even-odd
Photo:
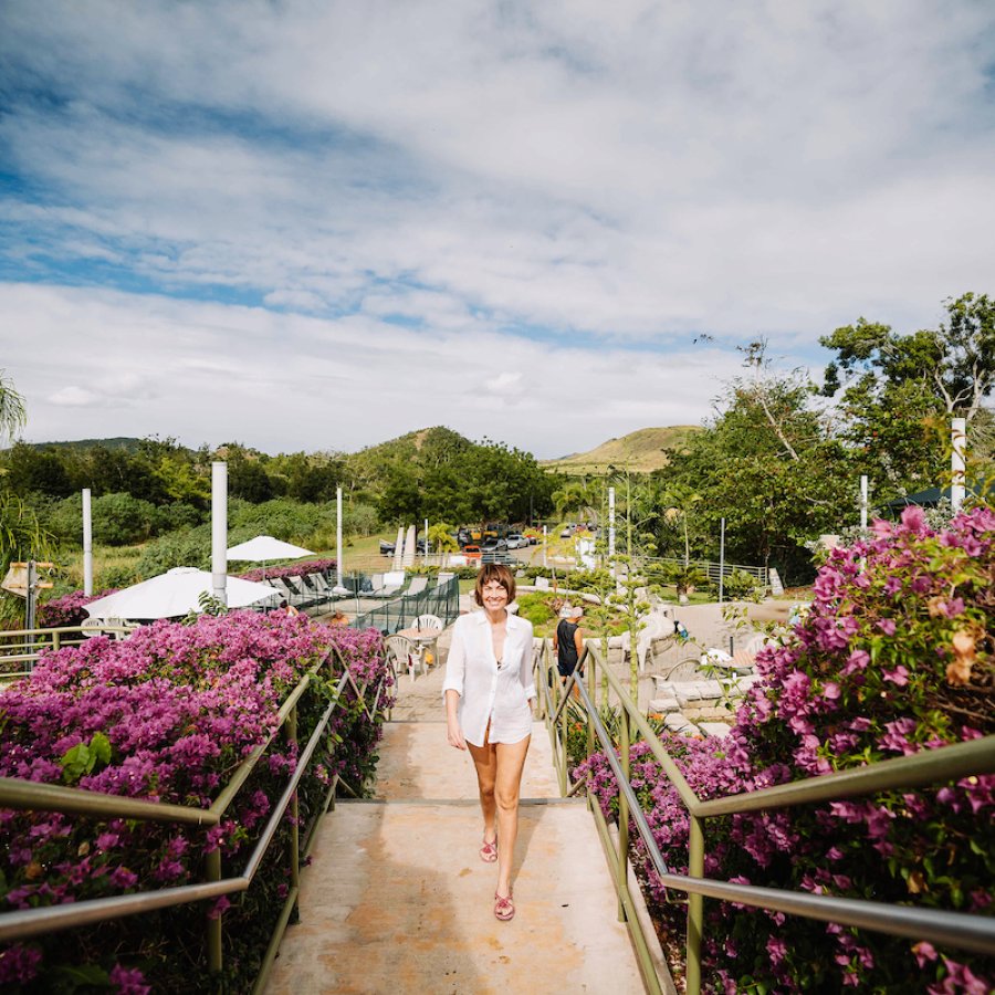
[[28,441],[553,458],[993,277],[987,0],[0,0]]

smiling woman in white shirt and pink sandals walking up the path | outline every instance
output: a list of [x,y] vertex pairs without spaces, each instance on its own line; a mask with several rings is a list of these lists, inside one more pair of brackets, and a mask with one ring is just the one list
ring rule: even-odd
[[498,863],[494,915],[513,919],[511,871],[519,832],[519,788],[532,736],[532,622],[507,610],[515,578],[484,564],[474,591],[483,611],[457,620],[446,663],[450,746],[470,751],[476,767],[484,831],[480,859]]

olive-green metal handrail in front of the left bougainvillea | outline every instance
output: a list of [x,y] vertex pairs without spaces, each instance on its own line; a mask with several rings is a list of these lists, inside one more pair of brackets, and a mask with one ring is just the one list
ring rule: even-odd
[[[207,855],[208,877],[209,879],[212,878],[212,880],[198,884],[184,884],[174,888],[156,889],[153,891],[138,891],[111,898],[88,899],[65,905],[3,912],[0,913],[0,942],[22,940],[59,930],[136,915],[156,909],[187,904],[189,902],[217,898],[222,894],[248,889],[272,844],[273,837],[275,836],[289,806],[296,816],[295,793],[297,785],[307,769],[311,757],[314,754],[317,744],[321,742],[332,714],[335,709],[342,704],[342,694],[345,688],[352,685],[356,692],[357,700],[363,703],[364,713],[367,718],[374,720],[376,709],[385,689],[385,679],[381,678],[379,681],[374,696],[374,704],[370,708],[366,703],[368,682],[362,685],[358,684],[349,671],[347,663],[342,658],[342,654],[333,647],[329,652],[301,679],[277,712],[277,724],[273,733],[268,737],[265,743],[256,746],[255,750],[253,750],[253,752],[239,765],[235,773],[232,775],[232,778],[230,778],[229,784],[226,785],[226,789],[214,799],[214,803],[209,809],[143,802],[140,799],[123,798],[121,796],[106,795],[98,792],[87,792],[82,788],[64,788],[56,785],[23,782],[17,778],[0,778],[0,807],[33,809],[38,811],[60,811],[73,815],[92,815],[104,818],[134,818],[185,824],[193,823],[196,825],[217,825],[220,823],[224,810],[234,798],[238,787],[244,783],[252,768],[263,756],[276,732],[281,727],[286,726],[293,737],[296,737],[296,704],[311,681],[316,677],[318,671],[329,662],[333,656],[338,659],[338,662],[343,668],[342,678],[335,688],[333,700],[328,703],[324,714],[315,725],[307,745],[297,760],[294,774],[287,783],[280,800],[273,807],[270,818],[268,819],[241,874],[222,879],[220,877],[220,850],[216,849]],[[229,790],[235,782],[237,786],[234,790]],[[328,807],[331,794],[334,789],[335,785],[333,783],[329,793],[326,795],[322,811]],[[321,813],[318,813],[318,816],[320,815]],[[291,850],[296,855],[298,852],[298,826],[296,819],[294,819],[294,823],[292,824],[291,835]],[[256,978],[256,991],[260,989],[265,982],[265,973],[272,963],[275,949],[286,928],[286,923],[290,919],[290,911],[296,903],[298,893],[296,887],[296,868],[292,868],[291,870],[295,883],[284,901],[283,911],[270,942],[270,950],[264,959],[264,970]],[[211,971],[220,971],[220,915],[208,921],[208,954]]]

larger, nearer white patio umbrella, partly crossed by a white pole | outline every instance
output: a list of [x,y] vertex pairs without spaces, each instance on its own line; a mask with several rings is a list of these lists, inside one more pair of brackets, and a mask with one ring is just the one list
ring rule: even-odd
[[[105,598],[97,598],[85,607],[91,618],[176,618],[190,611],[200,611],[202,594],[213,594],[213,582],[208,570],[175,567],[158,577],[134,584]],[[280,597],[280,591],[269,584],[254,584],[239,577],[228,578],[229,608],[245,608],[270,597]]]

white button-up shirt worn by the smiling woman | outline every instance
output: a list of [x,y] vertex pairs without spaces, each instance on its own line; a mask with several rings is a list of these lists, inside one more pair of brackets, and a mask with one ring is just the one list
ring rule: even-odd
[[[458,715],[468,743],[517,743],[532,733],[532,622],[509,612],[502,667],[498,669],[491,626],[484,611],[457,619],[446,661],[447,691],[460,695]],[[488,734],[488,722],[491,731]]]

